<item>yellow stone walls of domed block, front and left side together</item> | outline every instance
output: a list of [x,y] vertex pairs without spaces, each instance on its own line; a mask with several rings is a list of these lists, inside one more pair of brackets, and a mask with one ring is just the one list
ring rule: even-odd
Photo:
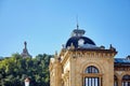
[[[50,62],[51,86],[84,86],[84,70],[94,66],[102,86],[114,86],[115,51],[69,51],[61,52],[58,58]],[[53,72],[53,75],[52,75]]]

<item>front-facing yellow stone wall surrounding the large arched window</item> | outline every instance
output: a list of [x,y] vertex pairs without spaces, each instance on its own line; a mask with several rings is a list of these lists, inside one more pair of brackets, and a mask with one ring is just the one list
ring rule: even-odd
[[[83,86],[84,70],[89,66],[94,66],[100,70],[100,75],[102,77],[102,86],[113,86],[114,85],[114,56],[107,53],[96,53],[96,52],[78,52],[76,58],[72,58],[70,68],[70,86]],[[104,80],[107,78],[107,80]],[[72,81],[69,81],[72,82]]]

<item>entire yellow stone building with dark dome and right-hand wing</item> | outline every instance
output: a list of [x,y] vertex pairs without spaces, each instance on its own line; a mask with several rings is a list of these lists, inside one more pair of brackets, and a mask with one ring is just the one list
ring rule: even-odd
[[96,46],[84,32],[77,25],[51,58],[50,86],[130,86],[130,56],[115,58],[114,46]]

